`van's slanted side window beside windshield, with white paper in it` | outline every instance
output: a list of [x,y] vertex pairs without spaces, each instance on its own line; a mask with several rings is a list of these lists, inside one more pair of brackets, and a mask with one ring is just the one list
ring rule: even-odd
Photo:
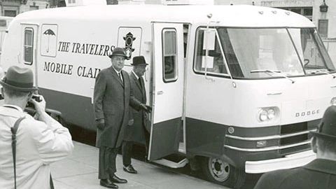
[[[207,73],[211,75],[227,75],[228,71],[225,66],[220,43],[218,43],[218,36],[215,35],[216,33],[214,32],[214,38],[210,35],[207,36],[207,47],[204,43],[205,33],[205,28],[197,29],[194,71],[197,73],[205,73],[205,68],[207,67]],[[209,48],[209,46],[211,46],[211,48]],[[208,55],[206,55],[206,48],[209,49]]]

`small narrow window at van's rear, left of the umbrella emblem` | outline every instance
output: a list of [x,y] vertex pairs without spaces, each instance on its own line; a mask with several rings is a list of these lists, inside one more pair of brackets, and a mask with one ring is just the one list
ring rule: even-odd
[[25,43],[24,43],[24,60],[25,64],[33,64],[33,40],[34,30],[30,27],[25,29]]

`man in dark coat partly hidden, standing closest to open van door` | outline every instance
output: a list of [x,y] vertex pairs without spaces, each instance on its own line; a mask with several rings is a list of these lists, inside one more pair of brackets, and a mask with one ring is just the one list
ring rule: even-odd
[[[130,72],[131,88],[134,97],[142,104],[146,104],[146,90],[144,83],[144,73],[148,64],[143,56],[133,57],[133,69]],[[134,143],[147,146],[146,131],[146,112],[130,109],[131,122],[125,129],[125,137],[122,145],[123,169],[125,172],[137,174],[131,162],[132,146]],[[147,135],[148,136],[148,135]]]

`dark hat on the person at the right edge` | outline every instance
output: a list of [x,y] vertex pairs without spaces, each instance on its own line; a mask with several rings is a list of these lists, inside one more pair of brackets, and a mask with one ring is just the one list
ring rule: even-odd
[[311,132],[315,137],[336,140],[336,106],[329,106],[323,114],[317,132]]

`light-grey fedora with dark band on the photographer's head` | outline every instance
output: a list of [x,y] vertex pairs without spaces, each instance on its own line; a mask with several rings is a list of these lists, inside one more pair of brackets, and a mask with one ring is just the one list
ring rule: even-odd
[[1,85],[18,91],[34,91],[33,71],[28,68],[20,68],[19,66],[10,66],[6,76],[0,80]]

